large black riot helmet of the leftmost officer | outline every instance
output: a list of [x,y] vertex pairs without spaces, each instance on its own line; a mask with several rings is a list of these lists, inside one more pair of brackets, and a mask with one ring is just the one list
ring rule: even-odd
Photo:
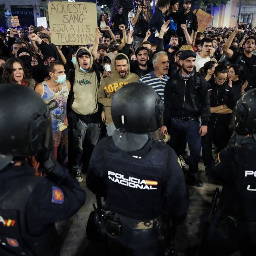
[[50,110],[33,89],[1,85],[0,120],[0,160],[3,155],[47,157],[53,147]]

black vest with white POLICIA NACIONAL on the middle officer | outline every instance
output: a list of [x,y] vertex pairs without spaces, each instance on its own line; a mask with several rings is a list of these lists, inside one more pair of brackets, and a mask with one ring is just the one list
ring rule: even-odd
[[116,214],[136,220],[157,218],[169,154],[168,146],[154,141],[147,155],[132,156],[116,147],[112,137],[108,137],[105,148],[107,206]]

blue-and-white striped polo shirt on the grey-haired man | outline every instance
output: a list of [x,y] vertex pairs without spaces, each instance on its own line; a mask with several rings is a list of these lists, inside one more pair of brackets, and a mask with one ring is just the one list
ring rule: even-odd
[[142,76],[139,81],[150,85],[162,98],[164,101],[164,87],[166,82],[169,80],[169,76],[164,75],[160,80],[154,73],[154,70],[150,73]]

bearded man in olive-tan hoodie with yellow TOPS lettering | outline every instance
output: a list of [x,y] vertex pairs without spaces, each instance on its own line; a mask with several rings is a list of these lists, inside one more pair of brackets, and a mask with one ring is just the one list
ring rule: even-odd
[[138,82],[139,76],[130,72],[130,62],[123,53],[118,53],[111,61],[111,75],[100,82],[98,101],[105,107],[107,133],[111,136],[115,125],[111,116],[111,103],[117,90],[131,82]]

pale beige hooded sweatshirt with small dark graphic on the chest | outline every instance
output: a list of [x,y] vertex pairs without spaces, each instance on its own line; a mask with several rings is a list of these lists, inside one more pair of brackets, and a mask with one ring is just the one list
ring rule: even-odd
[[[74,102],[72,109],[80,115],[91,115],[98,112],[98,79],[97,75],[92,68],[93,57],[90,51],[86,47],[80,47],[84,49],[90,55],[90,68],[84,72],[80,70],[79,61],[77,58],[76,69],[75,69],[75,81],[73,85],[74,91]],[[101,79],[103,79],[101,75]]]

